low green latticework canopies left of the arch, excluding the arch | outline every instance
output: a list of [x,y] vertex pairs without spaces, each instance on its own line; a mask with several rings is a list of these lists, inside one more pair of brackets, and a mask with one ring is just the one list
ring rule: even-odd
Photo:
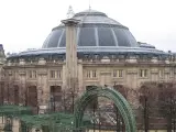
[[[2,131],[12,132],[12,120],[19,119],[21,132],[29,132],[31,129],[42,130],[43,132],[72,132],[74,127],[74,114],[53,112],[47,114],[32,114],[30,107],[4,105],[0,106],[0,117],[6,117],[10,122],[4,122]],[[85,130],[91,125],[89,117],[84,117],[79,130]],[[78,130],[78,129],[77,129]]]

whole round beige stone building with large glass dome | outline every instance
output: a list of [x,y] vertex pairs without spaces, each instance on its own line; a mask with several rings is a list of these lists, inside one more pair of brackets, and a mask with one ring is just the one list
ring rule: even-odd
[[[76,46],[67,47],[67,42]],[[66,53],[68,58],[75,56],[74,63],[67,61]],[[44,109],[51,98],[59,101],[62,91],[69,87],[81,92],[89,86],[138,89],[144,81],[172,81],[175,63],[172,53],[136,42],[129,28],[106,13],[86,10],[54,28],[42,48],[10,55],[4,65],[4,85],[14,84],[15,96],[9,96],[9,100],[15,98],[18,103]],[[74,86],[67,81],[68,69],[76,77]]]

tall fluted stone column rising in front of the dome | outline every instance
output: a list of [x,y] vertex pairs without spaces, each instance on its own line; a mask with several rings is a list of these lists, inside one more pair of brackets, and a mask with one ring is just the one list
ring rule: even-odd
[[62,22],[66,26],[66,84],[70,89],[78,80],[76,26],[79,20],[67,19]]

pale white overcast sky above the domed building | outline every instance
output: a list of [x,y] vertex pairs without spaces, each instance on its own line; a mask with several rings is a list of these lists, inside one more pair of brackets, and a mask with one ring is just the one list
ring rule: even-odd
[[136,41],[176,52],[176,0],[0,0],[0,44],[6,52],[40,48],[54,26],[89,8],[128,26]]

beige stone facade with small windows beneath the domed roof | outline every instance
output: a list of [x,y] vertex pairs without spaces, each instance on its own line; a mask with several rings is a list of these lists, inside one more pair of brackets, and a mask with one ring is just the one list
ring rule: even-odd
[[[173,56],[174,57],[174,56]],[[42,63],[42,62],[43,63]],[[78,59],[78,87],[79,92],[87,86],[123,85],[131,89],[138,89],[144,81],[174,81],[176,78],[175,59],[155,62],[147,59],[124,58],[99,61]],[[40,106],[48,103],[51,86],[61,86],[65,89],[66,63],[65,61],[38,59],[26,62],[19,59],[16,63],[8,61],[3,66],[6,80],[19,85],[19,88],[36,86],[37,101]]]

